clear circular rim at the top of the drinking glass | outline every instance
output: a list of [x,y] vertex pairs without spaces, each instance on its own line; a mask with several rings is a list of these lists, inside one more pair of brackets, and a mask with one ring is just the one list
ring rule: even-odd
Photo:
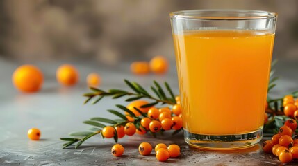
[[[218,15],[208,15],[215,14]],[[231,14],[224,16],[224,14]],[[239,16],[242,14],[244,16]],[[169,13],[175,19],[201,19],[201,20],[250,20],[250,19],[276,19],[276,12],[264,10],[237,10],[237,9],[199,9],[181,10]]]

